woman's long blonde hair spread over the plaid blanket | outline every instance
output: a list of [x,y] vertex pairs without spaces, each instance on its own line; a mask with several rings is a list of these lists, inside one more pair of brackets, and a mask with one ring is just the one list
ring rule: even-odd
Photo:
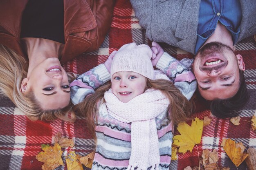
[[[32,121],[52,121],[57,118],[74,122],[72,103],[65,108],[43,110],[36,101],[33,91],[22,93],[20,85],[27,76],[28,62],[13,50],[0,44],[0,93],[9,97],[11,101]],[[69,80],[75,79],[73,73],[67,73]],[[67,116],[71,113],[71,117]]]

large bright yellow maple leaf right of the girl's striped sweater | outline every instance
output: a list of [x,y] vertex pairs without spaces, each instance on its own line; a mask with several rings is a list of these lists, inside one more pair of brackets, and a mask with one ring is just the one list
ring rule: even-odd
[[192,120],[191,126],[185,122],[179,123],[177,130],[181,135],[173,137],[173,144],[180,146],[178,152],[185,153],[188,150],[192,152],[195,144],[200,144],[201,142],[203,121],[196,117]]

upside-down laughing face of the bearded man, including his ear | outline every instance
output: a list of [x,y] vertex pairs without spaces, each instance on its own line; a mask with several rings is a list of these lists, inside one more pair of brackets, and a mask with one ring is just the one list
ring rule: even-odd
[[207,100],[233,97],[240,85],[239,69],[245,71],[243,58],[229,46],[220,42],[205,44],[193,64],[202,97]]

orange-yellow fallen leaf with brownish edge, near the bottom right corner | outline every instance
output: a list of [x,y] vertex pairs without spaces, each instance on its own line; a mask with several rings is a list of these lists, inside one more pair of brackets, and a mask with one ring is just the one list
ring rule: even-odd
[[231,159],[231,161],[235,164],[235,166],[239,166],[248,154],[243,153],[245,146],[241,142],[237,143],[231,139],[222,140],[223,149],[227,153],[227,156]]

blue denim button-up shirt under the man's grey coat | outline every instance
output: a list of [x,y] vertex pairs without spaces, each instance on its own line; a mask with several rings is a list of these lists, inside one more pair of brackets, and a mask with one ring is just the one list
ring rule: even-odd
[[201,0],[195,53],[213,34],[218,21],[231,32],[233,44],[235,44],[240,32],[241,19],[242,10],[239,0]]

